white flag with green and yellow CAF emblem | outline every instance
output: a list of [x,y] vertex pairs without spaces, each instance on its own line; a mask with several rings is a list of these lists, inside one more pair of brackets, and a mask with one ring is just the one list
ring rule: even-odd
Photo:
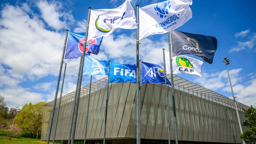
[[[192,74],[202,78],[201,67],[203,62],[198,59],[187,57],[185,55],[178,55],[172,57],[172,72],[173,74]],[[170,55],[165,51],[166,74],[171,74]]]

